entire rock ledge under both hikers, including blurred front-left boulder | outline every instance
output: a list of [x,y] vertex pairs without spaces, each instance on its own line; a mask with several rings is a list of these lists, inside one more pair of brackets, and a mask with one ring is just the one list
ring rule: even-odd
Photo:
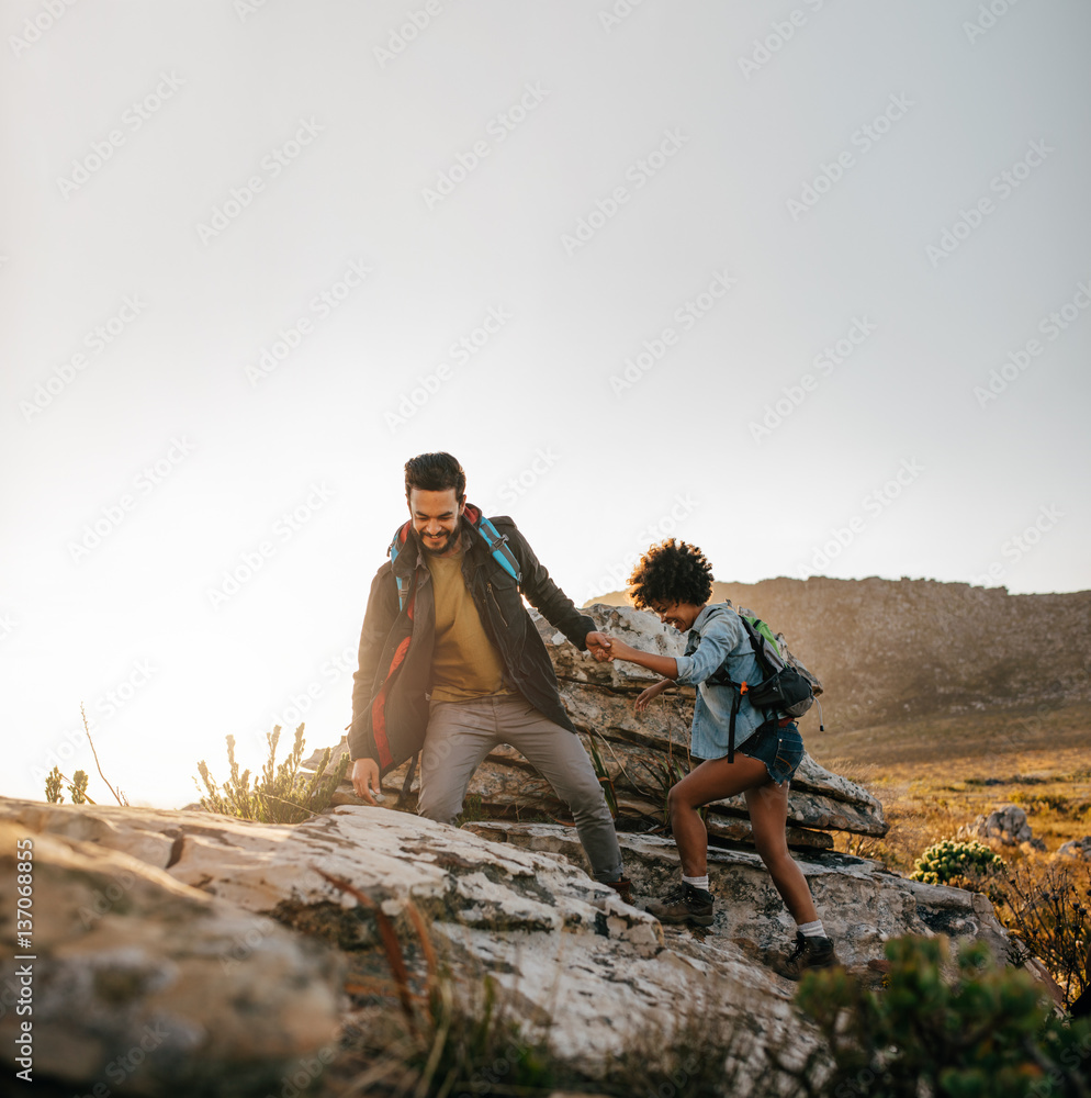
[[[710,852],[717,916],[696,931],[663,928],[588,877],[574,831],[556,825],[459,829],[342,806],[275,826],[0,800],[0,988],[10,1008],[21,963],[14,850],[29,838],[35,1069],[81,1093],[104,1083],[119,1095],[265,1094],[317,1062],[348,1007],[346,971],[385,967],[376,907],[412,945],[412,906],[466,1001],[491,975],[525,1031],[544,1024],[554,1053],[591,1073],[634,1034],[671,1033],[682,1004],[744,1024],[757,1044],[806,1050],[814,1040],[791,1008],[792,986],[764,963],[792,925],[749,851]],[[622,844],[639,900],[677,879],[670,840],[626,834]],[[1003,956],[1004,933],[980,896],[847,855],[809,852],[800,865],[862,974],[887,937],[909,932],[981,938]],[[419,951],[407,957],[423,971]],[[5,1009],[8,1065],[16,1026]]]

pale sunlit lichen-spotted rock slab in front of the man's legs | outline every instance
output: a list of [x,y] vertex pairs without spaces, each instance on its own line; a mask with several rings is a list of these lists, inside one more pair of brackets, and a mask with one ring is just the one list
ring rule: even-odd
[[653,918],[626,907],[611,888],[588,882],[564,859],[497,848],[385,808],[339,808],[304,824],[274,825],[212,813],[0,805],[3,817],[38,834],[79,836],[91,849],[130,852],[175,882],[345,948],[371,944],[374,927],[324,872],[350,881],[378,904],[412,898],[426,917],[461,926],[584,929],[657,941]]

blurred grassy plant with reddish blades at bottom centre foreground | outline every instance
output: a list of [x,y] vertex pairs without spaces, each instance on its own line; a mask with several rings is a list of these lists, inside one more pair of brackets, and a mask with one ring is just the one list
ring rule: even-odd
[[636,1027],[625,1051],[608,1056],[604,1069],[589,1076],[555,1055],[548,1016],[532,1023],[517,1017],[517,993],[488,974],[457,982],[438,962],[427,921],[412,900],[402,914],[418,940],[423,974],[410,972],[405,945],[380,903],[350,882],[314,869],[374,917],[390,968],[384,979],[369,965],[365,976],[345,985],[349,995],[367,1002],[357,1013],[363,1023],[349,1031],[348,1063],[339,1065],[342,1072],[363,1068],[355,1073],[353,1095],[550,1098],[578,1091],[616,1098],[728,1098],[740,1093],[760,1060],[757,1088],[745,1093],[752,1098],[803,1098],[802,1091],[785,1088],[791,1076],[769,1069],[776,1065],[739,1017],[731,985],[724,985],[721,998],[712,983],[679,1004],[666,1024]]

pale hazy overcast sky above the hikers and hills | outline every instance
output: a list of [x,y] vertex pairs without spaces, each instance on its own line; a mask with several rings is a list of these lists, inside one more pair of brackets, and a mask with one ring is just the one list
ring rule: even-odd
[[1091,8],[991,9],[11,0],[0,792],[337,742],[425,450],[577,602],[1091,585]]

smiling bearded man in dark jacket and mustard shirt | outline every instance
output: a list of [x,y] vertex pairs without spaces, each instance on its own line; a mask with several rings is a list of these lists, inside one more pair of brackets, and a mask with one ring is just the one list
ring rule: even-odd
[[495,519],[499,547],[486,542],[487,520],[466,504],[465,473],[451,455],[407,461],[405,496],[409,522],[371,583],[352,676],[352,787],[375,804],[380,773],[419,750],[417,811],[451,824],[482,760],[509,743],[569,805],[595,876],[628,901],[603,787],[521,595],[577,648],[605,654],[610,641],[510,518]]

